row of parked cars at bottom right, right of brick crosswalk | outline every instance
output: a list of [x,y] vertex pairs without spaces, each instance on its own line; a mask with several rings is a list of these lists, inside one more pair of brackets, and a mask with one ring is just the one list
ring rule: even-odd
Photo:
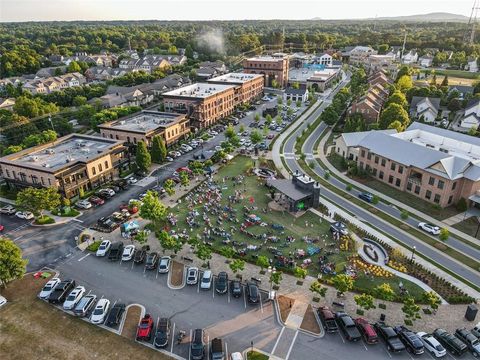
[[480,356],[480,323],[469,331],[457,329],[454,334],[444,329],[436,329],[433,333],[415,333],[405,326],[388,326],[383,321],[370,324],[364,318],[353,319],[345,312],[333,312],[326,306],[318,308],[318,315],[327,333],[340,331],[348,341],[363,339],[369,345],[377,344],[381,338],[390,352],[407,350],[411,354],[421,355],[429,352],[434,357],[443,357],[447,350],[460,356],[470,351],[473,356]]

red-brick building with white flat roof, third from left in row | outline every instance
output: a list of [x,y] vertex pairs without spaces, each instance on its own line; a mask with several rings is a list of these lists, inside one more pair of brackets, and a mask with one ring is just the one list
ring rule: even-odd
[[208,127],[235,108],[236,85],[196,83],[163,94],[165,111],[187,114],[192,126]]

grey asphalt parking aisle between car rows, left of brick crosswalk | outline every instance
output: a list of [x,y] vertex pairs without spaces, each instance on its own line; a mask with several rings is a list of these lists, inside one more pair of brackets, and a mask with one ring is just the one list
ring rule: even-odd
[[[239,298],[232,297],[230,291],[223,295],[216,293],[215,279],[209,290],[200,289],[199,284],[172,290],[167,285],[167,274],[145,270],[143,264],[110,262],[82,253],[57,270],[61,278],[75,279],[98,297],[112,303],[142,304],[156,321],[160,317],[169,318],[171,338],[166,350],[185,358],[189,355],[189,334],[197,328],[203,328],[209,339],[222,337],[229,352],[243,351],[251,341],[269,351],[281,329],[267,293],[261,292],[260,304],[250,305],[245,291]],[[175,341],[179,330],[187,334],[181,344]]]

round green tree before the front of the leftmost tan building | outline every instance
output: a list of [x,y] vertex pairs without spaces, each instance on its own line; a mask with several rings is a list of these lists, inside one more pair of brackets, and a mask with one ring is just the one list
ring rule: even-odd
[[45,210],[53,210],[60,205],[58,190],[51,188],[28,187],[17,194],[17,206],[25,211],[32,212],[35,216],[43,218]]

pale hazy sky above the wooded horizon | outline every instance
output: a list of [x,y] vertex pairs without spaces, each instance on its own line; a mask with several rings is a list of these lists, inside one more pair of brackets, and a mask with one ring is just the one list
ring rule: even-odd
[[474,0],[0,0],[0,21],[359,19],[449,12]]

